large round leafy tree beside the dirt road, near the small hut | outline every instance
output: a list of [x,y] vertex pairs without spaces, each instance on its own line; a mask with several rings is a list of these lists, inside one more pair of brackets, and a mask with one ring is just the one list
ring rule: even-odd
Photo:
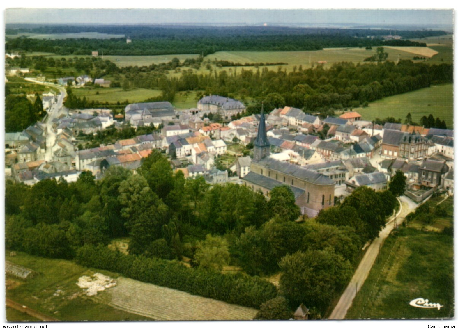
[[332,248],[298,251],[286,255],[279,265],[282,270],[280,291],[291,305],[304,303],[321,313],[344,288],[352,273],[349,261]]

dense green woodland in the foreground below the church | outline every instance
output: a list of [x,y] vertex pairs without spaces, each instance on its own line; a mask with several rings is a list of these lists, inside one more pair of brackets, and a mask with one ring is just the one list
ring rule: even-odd
[[[360,247],[378,235],[396,204],[390,191],[360,188],[316,220],[296,223],[300,211],[289,187],[273,189],[269,200],[237,184],[212,187],[202,177],[173,173],[165,156],[153,151],[135,175],[110,167],[99,181],[83,172],[76,183],[7,182],[6,248],[76,259],[250,307],[278,295],[256,275],[282,271],[280,294],[289,307],[306,302],[319,316],[349,280]],[[120,237],[130,238],[129,256],[107,247]],[[191,259],[191,268],[178,261],[182,256]],[[243,272],[221,274],[227,264]],[[295,287],[304,285],[323,289],[298,294]]]

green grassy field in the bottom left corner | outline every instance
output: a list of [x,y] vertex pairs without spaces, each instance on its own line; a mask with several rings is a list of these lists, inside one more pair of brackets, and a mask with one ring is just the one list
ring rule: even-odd
[[[93,297],[82,294],[82,289],[76,285],[78,278],[89,275],[92,271],[61,259],[46,259],[18,252],[16,256],[6,256],[15,264],[25,266],[38,272],[33,279],[23,281],[6,277],[6,298],[21,303],[40,313],[62,321],[122,321],[122,320],[151,320],[136,314],[120,311],[104,303],[99,303]],[[112,278],[117,274],[108,271],[98,272]],[[60,293],[57,291],[60,290]],[[11,312],[11,320],[19,320],[20,314]],[[25,316],[22,320],[28,320]],[[8,318],[9,320],[9,318]]]

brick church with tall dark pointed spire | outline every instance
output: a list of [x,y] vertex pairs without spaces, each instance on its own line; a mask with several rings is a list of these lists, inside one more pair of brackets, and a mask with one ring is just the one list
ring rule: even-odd
[[270,158],[270,144],[266,134],[264,108],[261,110],[259,129],[253,143],[254,156],[250,173],[242,178],[245,186],[254,191],[269,192],[280,185],[288,185],[294,193],[296,205],[302,214],[315,217],[322,209],[334,205],[333,179],[321,173]]

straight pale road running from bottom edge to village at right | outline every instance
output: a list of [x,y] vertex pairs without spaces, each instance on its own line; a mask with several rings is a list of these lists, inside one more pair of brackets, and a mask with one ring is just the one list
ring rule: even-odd
[[393,216],[390,219],[382,231],[379,232],[378,237],[374,239],[371,245],[367,248],[363,259],[358,265],[358,268],[354,272],[354,275],[347,286],[347,289],[345,289],[344,293],[340,297],[340,300],[334,308],[333,313],[329,316],[329,319],[339,320],[345,318],[356,293],[361,289],[364,281],[369,275],[372,265],[376,261],[379,250],[382,248],[383,242],[393,230],[395,224],[399,226],[404,221],[405,216],[417,207],[417,204],[405,196],[401,196],[399,199],[401,200],[402,208],[398,212],[398,216]]

